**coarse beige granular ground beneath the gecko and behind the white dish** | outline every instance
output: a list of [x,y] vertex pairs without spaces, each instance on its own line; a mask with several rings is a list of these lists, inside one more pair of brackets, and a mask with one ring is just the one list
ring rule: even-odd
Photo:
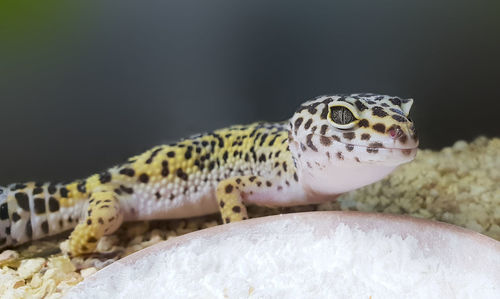
[[[359,210],[440,220],[500,240],[500,138],[457,141],[439,152],[421,150],[388,178],[337,202],[289,209],[250,207],[251,217],[313,210]],[[99,242],[98,254],[60,255],[66,235],[0,253],[1,298],[59,298],[88,275],[137,250],[218,225],[216,215],[130,223]]]

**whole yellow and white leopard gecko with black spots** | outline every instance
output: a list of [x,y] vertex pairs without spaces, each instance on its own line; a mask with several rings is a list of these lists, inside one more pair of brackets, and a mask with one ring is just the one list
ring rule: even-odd
[[68,253],[81,255],[123,221],[219,211],[229,223],[246,219],[248,204],[332,200],[413,159],[411,104],[374,94],[321,96],[288,122],[237,125],[156,146],[67,184],[2,187],[0,248],[74,229]]

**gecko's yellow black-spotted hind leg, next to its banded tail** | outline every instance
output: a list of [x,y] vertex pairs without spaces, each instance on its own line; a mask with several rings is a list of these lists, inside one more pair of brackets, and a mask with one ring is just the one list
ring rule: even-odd
[[69,254],[91,253],[104,235],[112,234],[123,222],[123,213],[114,191],[103,188],[90,196],[86,215],[69,238]]

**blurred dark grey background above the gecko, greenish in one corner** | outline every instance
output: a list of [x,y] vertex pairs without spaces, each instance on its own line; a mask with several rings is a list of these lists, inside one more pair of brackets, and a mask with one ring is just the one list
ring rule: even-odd
[[500,2],[3,1],[0,185],[350,92],[413,97],[422,148],[498,137]]

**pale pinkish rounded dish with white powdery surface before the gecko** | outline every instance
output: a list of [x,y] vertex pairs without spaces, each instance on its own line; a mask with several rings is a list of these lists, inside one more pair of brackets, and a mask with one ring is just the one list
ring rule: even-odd
[[[254,245],[271,247],[259,253]],[[479,233],[404,216],[309,212],[158,243],[98,271],[67,296],[500,298],[498,285],[500,242]]]

